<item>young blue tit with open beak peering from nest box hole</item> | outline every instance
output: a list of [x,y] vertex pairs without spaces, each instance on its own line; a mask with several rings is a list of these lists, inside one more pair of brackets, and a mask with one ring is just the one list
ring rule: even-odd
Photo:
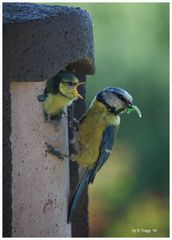
[[43,109],[48,119],[60,118],[64,107],[83,97],[78,93],[78,86],[85,84],[70,71],[62,70],[46,82],[44,93],[38,96],[43,102]]

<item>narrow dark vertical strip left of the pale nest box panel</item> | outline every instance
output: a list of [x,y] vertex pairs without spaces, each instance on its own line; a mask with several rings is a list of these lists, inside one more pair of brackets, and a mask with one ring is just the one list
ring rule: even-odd
[[3,72],[3,236],[12,233],[12,161],[11,161],[11,98],[9,82]]

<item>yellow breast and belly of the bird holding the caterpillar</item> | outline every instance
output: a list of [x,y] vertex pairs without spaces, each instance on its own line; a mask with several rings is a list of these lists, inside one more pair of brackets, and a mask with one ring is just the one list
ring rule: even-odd
[[83,167],[91,167],[98,160],[104,130],[109,125],[119,125],[119,123],[119,116],[107,114],[106,107],[96,102],[80,124],[76,135],[77,154],[74,160]]

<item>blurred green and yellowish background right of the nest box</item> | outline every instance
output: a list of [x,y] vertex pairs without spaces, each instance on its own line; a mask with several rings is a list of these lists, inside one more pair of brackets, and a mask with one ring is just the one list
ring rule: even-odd
[[118,86],[143,114],[121,116],[115,150],[89,187],[90,236],[167,237],[169,4],[57,4],[92,16],[96,74],[88,77],[87,106],[104,87]]

